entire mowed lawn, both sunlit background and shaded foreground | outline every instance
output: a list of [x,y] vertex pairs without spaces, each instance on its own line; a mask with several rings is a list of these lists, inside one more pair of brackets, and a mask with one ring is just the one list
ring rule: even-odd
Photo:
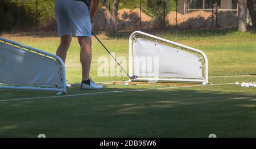
[[[254,31],[153,33],[203,50],[209,58],[210,76],[256,74]],[[117,57],[127,57],[128,35],[100,37]],[[5,37],[51,53],[59,43],[57,37]],[[96,82],[127,80],[98,76],[98,57],[110,57],[95,39],[93,53],[91,76]],[[80,82],[79,61],[74,38],[66,64],[71,83]],[[210,82],[256,82],[256,76],[210,78]],[[68,95],[3,101],[56,95],[0,90],[0,137],[37,137],[41,133],[47,137],[208,137],[212,133],[217,137],[256,137],[256,88],[234,84],[186,88],[105,85],[101,91],[80,91],[74,85]]]

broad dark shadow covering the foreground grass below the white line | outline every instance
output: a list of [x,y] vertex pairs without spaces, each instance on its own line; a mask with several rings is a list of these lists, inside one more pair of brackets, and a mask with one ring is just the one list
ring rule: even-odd
[[255,102],[255,95],[198,88],[12,101],[0,103],[0,136],[255,137]]

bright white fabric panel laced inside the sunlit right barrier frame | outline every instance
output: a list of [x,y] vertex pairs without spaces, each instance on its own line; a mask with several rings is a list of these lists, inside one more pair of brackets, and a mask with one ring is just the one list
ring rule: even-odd
[[202,79],[202,69],[195,53],[141,37],[133,42],[133,71],[140,77]]

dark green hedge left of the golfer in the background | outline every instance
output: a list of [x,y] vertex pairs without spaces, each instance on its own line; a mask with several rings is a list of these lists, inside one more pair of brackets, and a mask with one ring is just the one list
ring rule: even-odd
[[[55,22],[54,0],[38,0],[38,27]],[[35,29],[36,0],[0,1],[0,31]]]

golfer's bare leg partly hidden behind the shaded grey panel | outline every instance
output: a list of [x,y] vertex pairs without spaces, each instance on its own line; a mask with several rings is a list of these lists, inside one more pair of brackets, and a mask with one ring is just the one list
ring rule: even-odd
[[59,56],[64,63],[66,61],[68,48],[71,44],[71,41],[72,41],[71,35],[65,35],[60,37],[60,45],[57,49],[56,55]]

